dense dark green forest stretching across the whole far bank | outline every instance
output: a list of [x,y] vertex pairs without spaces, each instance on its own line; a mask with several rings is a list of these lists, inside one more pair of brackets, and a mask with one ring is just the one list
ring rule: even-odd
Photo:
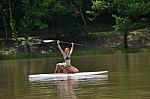
[[[108,30],[119,31],[128,48],[130,31],[150,28],[149,0],[1,0],[0,38],[29,37],[53,39],[88,39],[95,24],[105,24]],[[97,30],[96,30],[97,29]],[[106,29],[106,30],[107,30]],[[105,29],[102,29],[105,31]],[[106,32],[107,33],[107,32]],[[19,47],[18,47],[19,50]]]

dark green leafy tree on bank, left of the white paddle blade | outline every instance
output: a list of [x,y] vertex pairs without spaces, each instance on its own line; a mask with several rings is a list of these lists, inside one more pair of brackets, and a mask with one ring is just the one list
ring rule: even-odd
[[29,51],[29,36],[31,31],[36,29],[43,29],[47,24],[43,21],[46,8],[51,0],[22,0],[24,15],[21,19],[20,31],[24,33],[25,50]]

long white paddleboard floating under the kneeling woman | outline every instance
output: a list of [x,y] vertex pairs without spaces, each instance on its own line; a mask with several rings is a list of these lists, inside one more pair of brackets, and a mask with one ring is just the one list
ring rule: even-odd
[[108,71],[97,71],[97,72],[80,72],[74,74],[63,74],[63,73],[53,73],[53,74],[35,74],[29,75],[29,81],[38,80],[66,80],[66,79],[87,79],[87,78],[107,78]]

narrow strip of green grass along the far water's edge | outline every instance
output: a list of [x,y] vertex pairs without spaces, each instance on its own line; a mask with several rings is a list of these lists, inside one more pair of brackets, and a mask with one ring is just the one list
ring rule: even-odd
[[[80,50],[75,51],[73,56],[95,56],[95,55],[107,55],[107,54],[124,54],[124,53],[139,53],[150,52],[150,48],[130,48],[130,49],[116,49],[111,51],[100,50]],[[15,55],[0,55],[0,60],[15,60],[15,59],[35,59],[35,58],[49,58],[49,57],[61,57],[60,52],[51,53],[21,53]]]

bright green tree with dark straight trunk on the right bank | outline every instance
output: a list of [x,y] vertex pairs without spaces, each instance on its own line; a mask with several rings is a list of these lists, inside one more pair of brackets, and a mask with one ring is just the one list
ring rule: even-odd
[[150,13],[148,0],[114,0],[112,7],[116,8],[113,17],[116,20],[115,29],[124,34],[124,48],[128,48],[127,36]]

